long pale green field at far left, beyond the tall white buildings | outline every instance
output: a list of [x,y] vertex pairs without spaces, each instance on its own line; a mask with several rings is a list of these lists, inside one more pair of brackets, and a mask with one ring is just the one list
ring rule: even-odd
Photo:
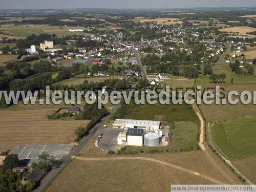
[[[70,32],[69,29],[75,28],[75,27],[62,27],[60,29],[60,26],[32,26],[32,27],[23,27],[23,26],[17,26],[17,27],[4,27],[0,29],[0,32],[3,32],[5,34],[9,35],[16,35],[20,37],[27,37],[31,34],[39,35],[41,33],[49,33],[53,34],[55,33],[58,37],[66,36],[66,35],[79,35],[83,34],[85,36],[90,36],[90,33],[83,33],[83,32]],[[80,27],[81,28],[81,27]],[[86,29],[86,28],[81,28]]]

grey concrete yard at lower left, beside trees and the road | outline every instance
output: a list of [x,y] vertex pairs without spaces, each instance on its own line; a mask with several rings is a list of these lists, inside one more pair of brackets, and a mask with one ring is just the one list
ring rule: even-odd
[[74,144],[51,144],[51,145],[18,145],[13,148],[11,154],[17,154],[24,165],[38,163],[38,155],[47,152],[57,160],[70,153]]

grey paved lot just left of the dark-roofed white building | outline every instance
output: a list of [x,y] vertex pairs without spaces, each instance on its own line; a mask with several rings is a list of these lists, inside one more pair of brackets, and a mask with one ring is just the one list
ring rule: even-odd
[[103,133],[103,135],[102,138],[99,140],[99,147],[105,152],[108,152],[109,150],[117,152],[117,148],[115,147],[115,145],[117,144],[116,138],[121,131],[122,130],[118,128],[106,128],[102,130],[100,133]]

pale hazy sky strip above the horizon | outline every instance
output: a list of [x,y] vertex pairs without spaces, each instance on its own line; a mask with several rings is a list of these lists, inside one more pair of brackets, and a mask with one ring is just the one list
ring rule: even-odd
[[256,0],[0,0],[0,9],[256,7]]

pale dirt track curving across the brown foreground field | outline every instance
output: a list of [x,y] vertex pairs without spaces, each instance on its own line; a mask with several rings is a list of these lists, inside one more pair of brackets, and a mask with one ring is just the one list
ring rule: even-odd
[[177,165],[174,165],[174,164],[170,164],[170,163],[167,163],[167,162],[164,162],[164,161],[160,161],[160,160],[156,160],[156,159],[151,159],[151,158],[146,158],[146,157],[105,157],[105,158],[86,158],[86,157],[73,157],[75,159],[78,159],[78,160],[82,160],[82,161],[108,161],[108,160],[127,160],[127,159],[137,159],[137,160],[144,160],[144,161],[152,161],[152,162],[155,162],[155,163],[159,163],[159,164],[162,164],[162,165],[166,165],[166,166],[170,166],[170,167],[173,167],[173,168],[177,168],[179,170],[182,170],[184,172],[187,172],[187,173],[190,173],[190,174],[193,174],[193,175],[196,175],[198,177],[202,177],[204,179],[207,179],[211,182],[214,182],[216,184],[224,184],[223,182],[221,181],[218,181],[216,179],[213,179],[211,177],[208,177],[206,175],[203,175],[203,174],[200,174],[198,172],[194,172],[193,170],[189,170],[189,169],[186,169],[186,168],[183,168],[183,167],[180,167],[180,166],[177,166]]

